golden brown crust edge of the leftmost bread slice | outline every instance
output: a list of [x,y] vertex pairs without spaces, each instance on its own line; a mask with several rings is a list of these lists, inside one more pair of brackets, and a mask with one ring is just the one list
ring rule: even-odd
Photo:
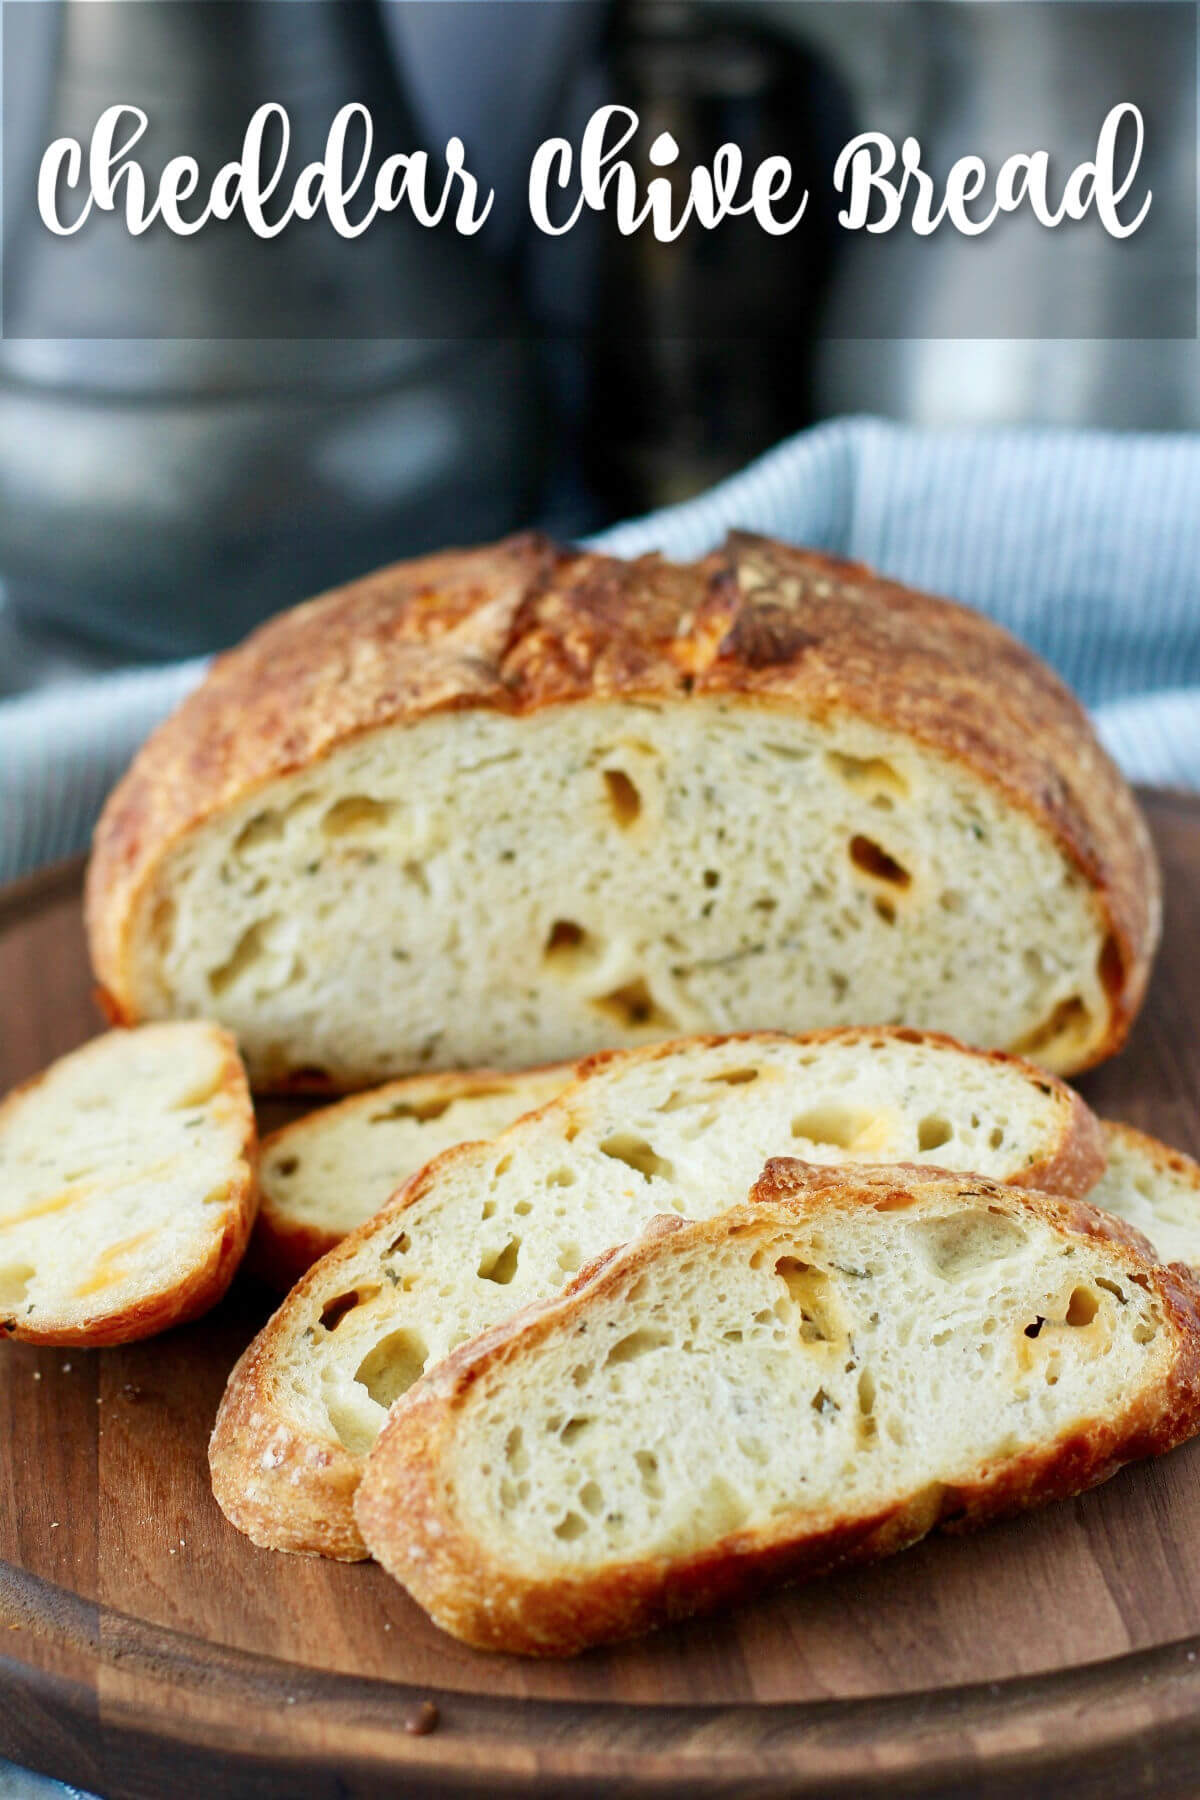
[[[203,1264],[191,1267],[184,1280],[173,1287],[144,1294],[119,1312],[97,1312],[85,1321],[54,1319],[45,1312],[36,1314],[36,1323],[0,1318],[0,1339],[14,1337],[31,1345],[76,1345],[86,1350],[103,1350],[112,1345],[139,1343],[142,1337],[157,1337],[158,1332],[187,1325],[223,1298],[245,1256],[259,1208],[257,1125],[237,1044],[230,1031],[221,1031],[216,1026],[210,1030],[221,1042],[221,1075],[216,1085],[239,1118],[241,1154],[228,1181],[219,1217],[216,1204],[212,1206],[212,1238]],[[5,1096],[0,1103],[0,1130],[7,1109],[38,1087],[47,1075],[49,1071],[43,1069]]]

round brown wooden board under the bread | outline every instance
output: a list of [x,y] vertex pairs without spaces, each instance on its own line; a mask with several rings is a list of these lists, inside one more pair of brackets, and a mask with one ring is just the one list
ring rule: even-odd
[[[1146,805],[1164,949],[1081,1085],[1200,1154],[1200,801]],[[0,895],[0,1087],[97,1028],[79,869]],[[218,1512],[207,1435],[266,1307],[241,1285],[128,1350],[0,1346],[2,1755],[106,1800],[1198,1791],[1200,1440],[624,1649],[486,1658],[378,1568],[270,1555]]]

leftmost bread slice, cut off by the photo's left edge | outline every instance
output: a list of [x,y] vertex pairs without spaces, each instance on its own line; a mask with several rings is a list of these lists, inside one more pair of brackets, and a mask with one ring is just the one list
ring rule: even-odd
[[254,1109],[212,1024],[110,1031],[0,1105],[0,1337],[124,1345],[207,1312],[257,1204]]

